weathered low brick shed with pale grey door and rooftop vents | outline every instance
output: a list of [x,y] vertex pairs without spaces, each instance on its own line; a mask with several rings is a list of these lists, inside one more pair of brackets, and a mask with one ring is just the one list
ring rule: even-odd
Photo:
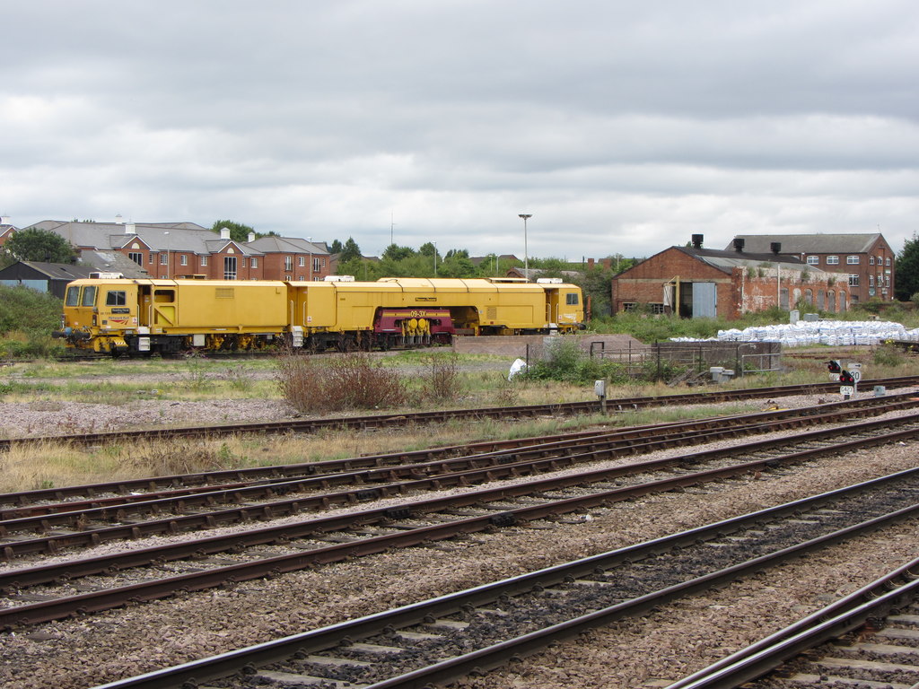
[[798,256],[672,246],[623,271],[612,280],[613,311],[647,306],[652,313],[682,318],[739,318],[743,313],[778,306],[793,309],[802,300],[822,311],[845,311],[849,303],[845,275],[821,270]]

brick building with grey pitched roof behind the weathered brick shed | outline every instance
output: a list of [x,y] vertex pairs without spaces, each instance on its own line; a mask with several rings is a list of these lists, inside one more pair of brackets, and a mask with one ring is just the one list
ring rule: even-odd
[[[747,251],[767,252],[780,243],[782,254],[794,254],[814,268],[848,276],[852,303],[892,301],[896,254],[879,232],[866,234],[738,234]],[[728,246],[730,249],[731,246]]]

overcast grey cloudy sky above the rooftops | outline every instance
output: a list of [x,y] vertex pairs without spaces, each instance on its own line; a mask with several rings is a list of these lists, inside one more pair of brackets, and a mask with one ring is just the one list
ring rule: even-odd
[[915,0],[4,0],[0,214],[643,257],[919,231]]

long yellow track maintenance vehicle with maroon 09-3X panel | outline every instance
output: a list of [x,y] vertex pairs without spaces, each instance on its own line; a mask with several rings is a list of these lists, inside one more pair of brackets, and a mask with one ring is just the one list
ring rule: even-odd
[[118,355],[257,350],[281,342],[314,351],[449,344],[455,335],[571,332],[580,289],[501,279],[377,282],[88,278],[64,299],[71,347]]

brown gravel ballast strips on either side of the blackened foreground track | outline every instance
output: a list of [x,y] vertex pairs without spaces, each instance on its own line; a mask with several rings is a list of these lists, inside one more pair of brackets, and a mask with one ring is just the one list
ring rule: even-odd
[[[790,406],[790,401],[781,401]],[[815,400],[796,400],[797,404]],[[233,402],[237,404],[237,402]],[[105,405],[101,405],[105,406]],[[188,414],[183,414],[189,420]],[[551,530],[516,527],[0,637],[0,684],[82,688],[619,548],[915,466],[914,446],[649,496]],[[571,520],[574,521],[574,520]],[[916,525],[830,548],[467,680],[476,689],[636,687],[693,672],[915,557]],[[411,576],[406,573],[411,572]]]

